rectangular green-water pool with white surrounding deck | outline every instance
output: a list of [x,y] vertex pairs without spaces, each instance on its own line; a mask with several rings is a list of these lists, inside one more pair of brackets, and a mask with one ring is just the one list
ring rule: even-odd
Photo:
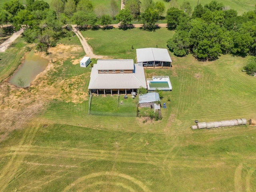
[[147,79],[148,91],[159,90],[172,90],[172,84],[169,76],[153,76],[152,79]]

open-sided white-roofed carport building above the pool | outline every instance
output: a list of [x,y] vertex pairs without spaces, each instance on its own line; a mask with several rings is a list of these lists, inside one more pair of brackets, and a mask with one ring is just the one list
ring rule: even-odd
[[136,49],[137,62],[143,66],[151,67],[171,67],[172,59],[167,49],[162,48],[141,48]]

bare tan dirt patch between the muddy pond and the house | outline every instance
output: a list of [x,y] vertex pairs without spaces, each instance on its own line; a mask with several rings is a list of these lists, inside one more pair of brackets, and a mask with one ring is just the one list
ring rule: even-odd
[[50,73],[62,66],[68,58],[76,58],[80,46],[66,46],[58,44],[49,48],[49,53],[37,52],[49,61],[46,69],[36,76],[27,89],[17,88],[8,83],[8,79],[0,84],[0,141],[4,140],[12,130],[23,128],[24,125],[40,112],[52,99],[66,102],[82,102],[88,95],[81,87],[86,78],[85,74],[65,80],[56,80],[49,84]]

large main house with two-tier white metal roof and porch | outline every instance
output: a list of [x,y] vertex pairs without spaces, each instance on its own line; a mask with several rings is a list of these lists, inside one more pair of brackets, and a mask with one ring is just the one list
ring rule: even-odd
[[133,92],[140,86],[147,88],[142,64],[132,59],[98,60],[90,75],[90,92],[120,93]]

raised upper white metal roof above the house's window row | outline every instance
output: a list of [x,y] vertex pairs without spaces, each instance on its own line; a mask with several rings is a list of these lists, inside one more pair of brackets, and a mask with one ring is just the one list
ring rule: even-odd
[[133,59],[99,59],[97,70],[134,70]]

